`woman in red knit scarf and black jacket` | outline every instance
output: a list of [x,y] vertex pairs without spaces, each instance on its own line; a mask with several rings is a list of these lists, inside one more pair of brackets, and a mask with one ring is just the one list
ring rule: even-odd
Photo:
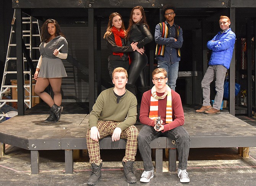
[[111,53],[109,55],[108,69],[109,75],[112,79],[113,70],[117,67],[123,67],[125,70],[129,68],[129,59],[127,52],[138,51],[143,54],[144,49],[138,49],[138,42],[131,44],[126,40],[126,30],[123,24],[122,16],[115,12],[109,16],[109,24],[107,27],[107,32],[104,35],[107,47],[110,49]]

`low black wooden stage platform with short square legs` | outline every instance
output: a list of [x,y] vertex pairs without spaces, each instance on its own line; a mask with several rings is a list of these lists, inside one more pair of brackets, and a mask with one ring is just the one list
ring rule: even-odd
[[[72,105],[73,104],[73,105]],[[220,114],[195,113],[189,105],[183,107],[185,129],[191,137],[191,148],[238,147],[243,157],[249,148],[256,146],[256,128],[222,111]],[[4,154],[4,144],[31,151],[31,173],[39,173],[40,150],[65,150],[66,173],[73,172],[73,149],[86,149],[88,110],[83,103],[66,103],[60,122],[45,123],[48,108],[38,105],[26,112],[25,116],[15,116],[0,123],[0,154]],[[143,125],[136,125],[140,129]],[[104,138],[106,139],[106,138]],[[111,138],[100,142],[102,149],[122,149],[125,140],[112,142]],[[156,149],[156,170],[161,172],[162,149],[169,149],[169,170],[176,170],[176,141],[157,138],[152,141]],[[114,161],[114,160],[113,160]]]

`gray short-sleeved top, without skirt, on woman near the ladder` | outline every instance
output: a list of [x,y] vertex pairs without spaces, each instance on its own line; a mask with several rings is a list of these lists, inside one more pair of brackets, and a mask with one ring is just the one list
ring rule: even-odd
[[64,46],[60,49],[60,52],[68,53],[68,42],[64,37],[60,35],[50,40],[45,47],[44,47],[44,43],[45,41],[43,41],[39,46],[39,52],[42,57],[47,57],[49,59],[56,59],[57,57],[53,54],[53,51],[55,51],[55,49],[58,49],[60,46],[62,46],[62,44],[64,44]]

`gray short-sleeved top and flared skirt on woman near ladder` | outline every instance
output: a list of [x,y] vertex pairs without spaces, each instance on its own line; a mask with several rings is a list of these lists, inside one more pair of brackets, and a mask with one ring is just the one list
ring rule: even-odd
[[62,44],[64,46],[60,52],[68,53],[68,42],[62,36],[57,36],[44,47],[44,41],[39,46],[40,55],[42,56],[42,63],[38,77],[40,78],[63,78],[67,77],[66,70],[60,58],[53,54],[55,49],[58,49]]

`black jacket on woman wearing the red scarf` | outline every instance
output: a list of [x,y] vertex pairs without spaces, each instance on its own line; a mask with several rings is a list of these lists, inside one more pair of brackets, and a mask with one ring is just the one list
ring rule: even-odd
[[[128,55],[126,54],[126,52],[133,51],[133,48],[131,48],[129,41],[126,41],[125,38],[121,38],[123,46],[117,46],[117,44],[115,43],[115,37],[113,33],[111,33],[109,36],[106,36],[105,40],[107,43],[107,48],[110,49],[108,60],[122,60],[122,61],[128,60]],[[120,57],[118,55],[113,55],[113,52],[123,52],[123,56]]]

